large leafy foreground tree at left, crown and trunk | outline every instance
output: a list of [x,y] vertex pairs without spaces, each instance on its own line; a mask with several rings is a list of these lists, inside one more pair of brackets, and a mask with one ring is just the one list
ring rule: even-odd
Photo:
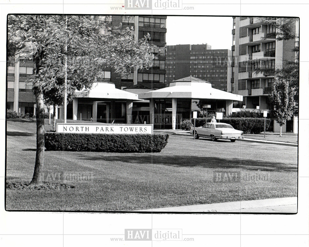
[[[36,160],[29,186],[43,183],[44,99],[51,100],[54,89],[61,96],[64,58],[68,60],[68,88],[73,95],[75,90],[89,90],[106,66],[120,75],[128,74],[130,69],[149,68],[154,55],[148,37],[136,42],[131,32],[120,28],[106,30],[98,16],[8,16],[9,56],[35,63],[31,80],[37,107]],[[48,98],[44,98],[44,93]]]

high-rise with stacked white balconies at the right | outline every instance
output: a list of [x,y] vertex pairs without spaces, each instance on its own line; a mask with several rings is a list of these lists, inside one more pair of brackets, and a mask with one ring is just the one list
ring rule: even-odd
[[[295,40],[277,40],[276,22],[282,18],[233,17],[231,92],[243,96],[234,107],[269,110],[269,94],[273,91],[274,74],[256,73],[257,68],[282,68],[285,61],[295,61]],[[296,30],[296,27],[295,27]],[[277,131],[274,122],[272,130]],[[284,131],[296,132],[297,118],[287,121]]]

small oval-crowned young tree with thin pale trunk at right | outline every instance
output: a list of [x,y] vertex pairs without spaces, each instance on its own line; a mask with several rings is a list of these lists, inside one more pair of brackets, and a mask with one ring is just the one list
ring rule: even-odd
[[289,83],[281,77],[275,80],[273,92],[270,94],[270,114],[280,125],[280,137],[282,136],[282,125],[293,116],[294,99],[293,93],[289,91]]

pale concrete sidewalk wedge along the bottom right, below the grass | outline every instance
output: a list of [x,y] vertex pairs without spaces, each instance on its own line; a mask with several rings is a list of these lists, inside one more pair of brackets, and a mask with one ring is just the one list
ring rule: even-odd
[[297,197],[155,208],[135,212],[297,213]]

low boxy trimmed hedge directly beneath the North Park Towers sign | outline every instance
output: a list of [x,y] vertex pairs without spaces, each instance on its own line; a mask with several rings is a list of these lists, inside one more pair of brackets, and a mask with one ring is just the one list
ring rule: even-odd
[[168,134],[85,134],[45,132],[46,150],[117,153],[160,152]]

